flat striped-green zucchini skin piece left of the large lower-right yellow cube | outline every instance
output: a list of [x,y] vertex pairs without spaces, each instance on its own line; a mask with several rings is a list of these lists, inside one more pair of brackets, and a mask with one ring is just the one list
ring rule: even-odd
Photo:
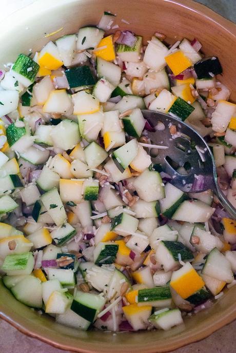
[[171,304],[170,288],[156,287],[140,289],[137,294],[137,303],[139,306],[168,307]]

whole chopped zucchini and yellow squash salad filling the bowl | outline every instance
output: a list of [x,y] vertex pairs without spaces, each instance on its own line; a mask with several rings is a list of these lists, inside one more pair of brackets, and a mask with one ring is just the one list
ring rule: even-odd
[[184,193],[152,163],[163,124],[142,109],[207,139],[236,207],[236,105],[198,40],[146,43],[116,23],[104,12],[0,71],[1,273],[63,325],[168,330],[236,283],[236,221],[211,190]]

